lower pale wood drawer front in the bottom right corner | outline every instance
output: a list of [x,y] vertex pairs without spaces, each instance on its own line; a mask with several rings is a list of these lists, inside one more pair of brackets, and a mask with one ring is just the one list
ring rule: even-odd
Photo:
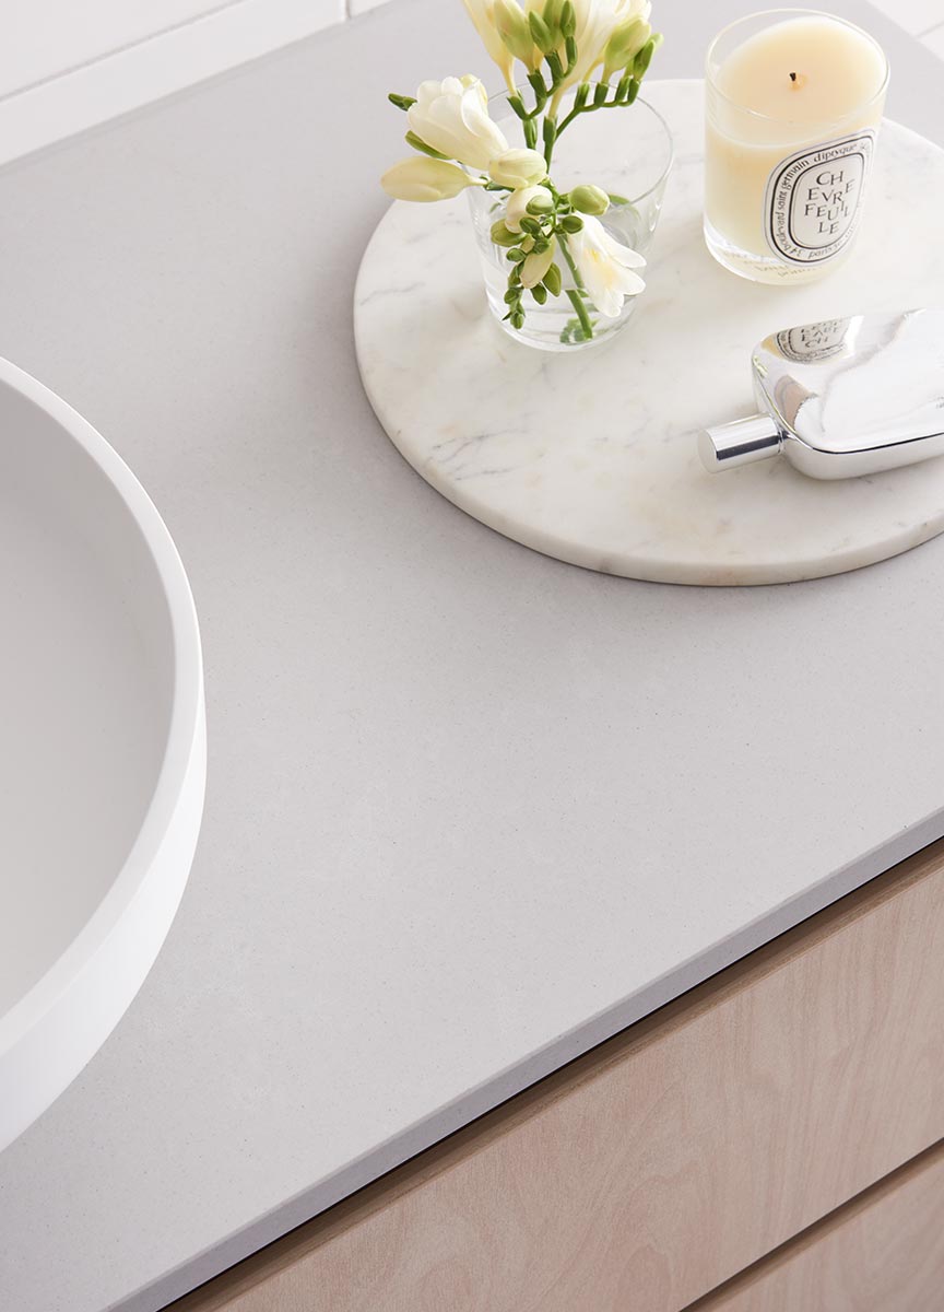
[[936,1312],[944,1307],[944,1144],[687,1312]]

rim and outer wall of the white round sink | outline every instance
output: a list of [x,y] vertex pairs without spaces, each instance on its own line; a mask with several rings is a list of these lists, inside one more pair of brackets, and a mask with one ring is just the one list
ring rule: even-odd
[[[83,928],[45,974],[0,1014],[0,1151],[5,1138],[3,1106],[8,1076],[34,1078],[43,1086],[39,1105],[17,1130],[22,1110],[13,1113],[12,1138],[75,1078],[108,1038],[131,1004],[160,949],[186,886],[199,832],[206,785],[206,728],[203,661],[197,609],[177,547],[160,513],[118,453],[67,401],[33,375],[0,357],[0,392],[26,398],[63,429],[92,458],[123,500],[156,567],[170,622],[173,695],[169,728],[157,781],[143,823],[125,862]],[[181,878],[182,869],[182,878]],[[143,897],[147,886],[148,896]],[[147,901],[148,914],[135,903]],[[118,933],[136,909],[140,955],[127,959],[127,943]],[[155,916],[160,922],[155,922]],[[134,929],[134,925],[131,926]],[[119,974],[115,981],[114,972]],[[113,989],[113,996],[106,996]],[[79,1006],[63,1006],[69,994]],[[93,1014],[83,1015],[81,1006]],[[72,1014],[69,1014],[72,1013]],[[63,1031],[71,1050],[42,1052],[30,1042],[56,1026],[77,1026],[79,1038]],[[26,1051],[24,1051],[26,1050]],[[52,1069],[54,1068],[54,1069]],[[71,1071],[71,1073],[68,1073]],[[24,1073],[25,1072],[25,1073]],[[52,1092],[51,1092],[52,1090]],[[50,1096],[51,1094],[51,1096]]]

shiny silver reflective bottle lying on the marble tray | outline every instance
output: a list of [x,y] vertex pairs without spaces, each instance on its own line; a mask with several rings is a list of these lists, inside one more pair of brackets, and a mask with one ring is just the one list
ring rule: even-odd
[[711,471],[785,455],[852,479],[944,455],[944,310],[788,328],[751,365],[759,413],[700,434]]

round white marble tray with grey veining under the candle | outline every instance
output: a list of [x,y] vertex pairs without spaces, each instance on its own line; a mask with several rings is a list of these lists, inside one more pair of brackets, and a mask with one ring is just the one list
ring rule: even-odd
[[[464,199],[395,203],[355,291],[358,361],[409,463],[482,523],[577,565],[659,583],[766,584],[886,559],[944,529],[944,458],[821,483],[784,459],[707,474],[695,434],[754,412],[767,333],[944,304],[944,151],[886,122],[855,253],[806,287],[721,269],[701,239],[700,81],[646,84],[677,164],[644,300],[599,348],[547,354],[485,306]],[[614,150],[620,115],[611,114]]]

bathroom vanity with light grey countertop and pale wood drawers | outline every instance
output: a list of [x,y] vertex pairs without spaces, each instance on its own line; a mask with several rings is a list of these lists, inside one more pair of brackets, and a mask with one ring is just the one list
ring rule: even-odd
[[[662,75],[742,12],[709,8]],[[940,138],[934,56],[835,8]],[[208,733],[157,963],[0,1155],[4,1312],[940,1288],[944,539],[789,586],[636,584],[416,476],[351,294],[384,92],[473,54],[458,4],[393,0],[0,173],[0,356],[164,516]]]

